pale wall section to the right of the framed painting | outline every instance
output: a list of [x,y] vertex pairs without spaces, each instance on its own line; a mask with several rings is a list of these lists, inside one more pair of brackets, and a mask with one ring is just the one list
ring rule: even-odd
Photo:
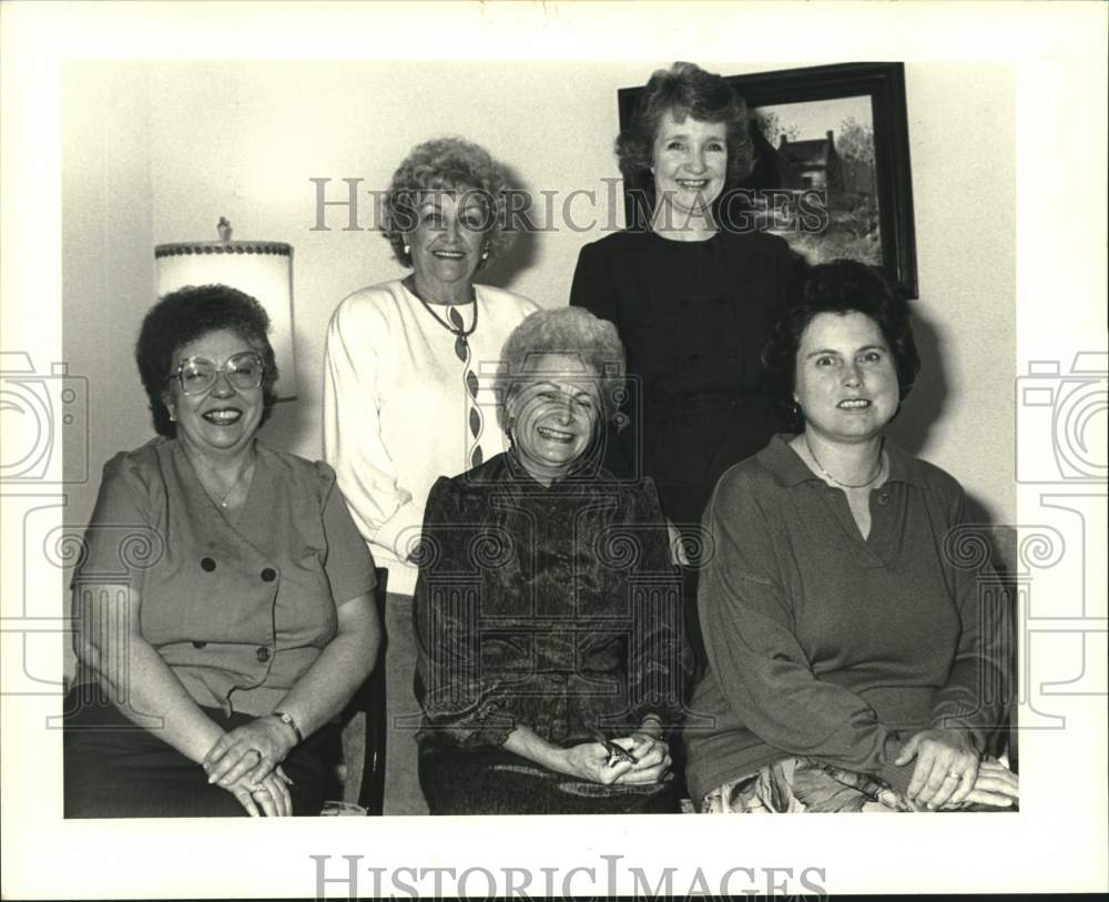
[[1003,524],[1016,523],[1015,87],[1007,65],[906,67],[924,366],[892,429]]

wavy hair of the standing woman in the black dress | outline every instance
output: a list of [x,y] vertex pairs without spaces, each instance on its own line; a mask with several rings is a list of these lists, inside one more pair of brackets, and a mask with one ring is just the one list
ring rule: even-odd
[[[682,121],[723,122],[728,129],[726,190],[742,182],[754,165],[754,145],[747,121],[747,104],[723,79],[691,62],[675,62],[655,70],[640,94],[628,126],[617,138],[617,160],[624,185],[647,201],[653,212],[654,178],[651,166],[659,123],[667,113]],[[718,199],[719,200],[719,199]]]

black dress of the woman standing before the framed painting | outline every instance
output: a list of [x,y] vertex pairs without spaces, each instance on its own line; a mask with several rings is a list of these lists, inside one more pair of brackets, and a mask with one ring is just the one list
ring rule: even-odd
[[570,304],[614,323],[628,353],[631,422],[610,436],[606,467],[652,477],[683,533],[696,530],[721,474],[781,425],[761,357],[793,261],[761,232],[701,242],[617,232],[581,249]]

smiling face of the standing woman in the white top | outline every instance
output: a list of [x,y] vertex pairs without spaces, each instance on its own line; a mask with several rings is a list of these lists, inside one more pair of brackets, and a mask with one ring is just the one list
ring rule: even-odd
[[468,284],[481,263],[489,224],[489,211],[477,192],[425,192],[416,205],[416,227],[405,235],[417,277],[424,283]]

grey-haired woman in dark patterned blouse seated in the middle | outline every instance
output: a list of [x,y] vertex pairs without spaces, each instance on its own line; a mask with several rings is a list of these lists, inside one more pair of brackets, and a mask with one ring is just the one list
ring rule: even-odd
[[509,336],[509,450],[431,489],[416,587],[419,774],[433,814],[675,810],[665,737],[689,657],[650,480],[601,469],[624,353],[541,311]]

